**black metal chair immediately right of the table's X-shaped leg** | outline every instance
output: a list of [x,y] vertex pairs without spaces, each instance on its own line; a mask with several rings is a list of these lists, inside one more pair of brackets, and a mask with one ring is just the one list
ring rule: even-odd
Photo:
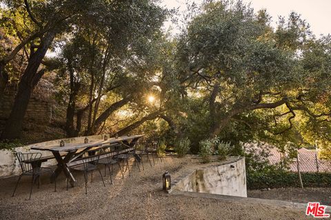
[[[71,170],[77,170],[84,173],[84,179],[85,179],[85,194],[88,194],[88,172],[91,172],[91,182],[93,181],[93,170],[98,170],[100,177],[103,182],[103,186],[106,186],[105,181],[103,181],[103,177],[101,174],[100,169],[98,168],[97,164],[99,162],[100,155],[90,155],[88,157],[82,157],[81,162],[82,164],[77,166],[70,167]],[[68,179],[67,179],[67,190],[68,190]]]

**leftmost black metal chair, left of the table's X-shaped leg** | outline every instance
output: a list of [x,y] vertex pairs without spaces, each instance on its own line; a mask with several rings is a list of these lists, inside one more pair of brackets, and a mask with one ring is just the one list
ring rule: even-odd
[[[19,179],[17,180],[16,186],[14,188],[14,192],[12,192],[12,197],[15,195],[15,191],[21,180],[23,175],[32,176],[31,188],[30,188],[30,197],[32,194],[33,184],[36,180],[38,180],[38,188],[40,184],[40,175],[43,173],[51,173],[53,174],[53,170],[46,167],[41,167],[41,153],[16,153],[17,159],[19,160],[19,165],[21,166],[22,173],[19,175]],[[57,181],[54,181],[54,192],[57,191]]]

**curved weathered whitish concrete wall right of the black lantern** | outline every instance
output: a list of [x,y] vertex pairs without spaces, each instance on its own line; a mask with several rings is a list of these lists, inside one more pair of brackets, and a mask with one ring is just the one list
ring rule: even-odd
[[195,170],[181,178],[172,190],[247,197],[245,158]]

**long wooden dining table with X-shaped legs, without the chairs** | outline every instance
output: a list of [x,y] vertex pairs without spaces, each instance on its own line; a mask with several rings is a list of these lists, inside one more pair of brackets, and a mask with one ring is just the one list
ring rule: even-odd
[[[122,149],[121,151],[107,153],[107,156],[127,153],[134,150],[134,145],[137,143],[137,140],[139,140],[140,137],[143,137],[143,135],[111,137],[108,140],[95,140],[81,144],[70,143],[65,144],[65,146],[33,146],[31,149],[52,152],[54,158],[57,160],[57,168],[54,170],[51,181],[54,181],[61,174],[61,172],[63,172],[64,175],[66,175],[68,178],[70,185],[74,186],[76,179],[74,179],[74,176],[68,167],[79,164],[79,159],[81,159],[84,154],[96,151],[99,148],[106,148],[109,146],[122,146]],[[66,153],[66,155],[63,155],[64,153]]]

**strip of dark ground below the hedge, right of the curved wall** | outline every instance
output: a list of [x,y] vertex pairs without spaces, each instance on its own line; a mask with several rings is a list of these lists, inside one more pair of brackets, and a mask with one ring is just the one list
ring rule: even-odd
[[261,199],[277,199],[308,203],[319,201],[331,206],[331,188],[273,188],[271,190],[248,190],[248,197]]

